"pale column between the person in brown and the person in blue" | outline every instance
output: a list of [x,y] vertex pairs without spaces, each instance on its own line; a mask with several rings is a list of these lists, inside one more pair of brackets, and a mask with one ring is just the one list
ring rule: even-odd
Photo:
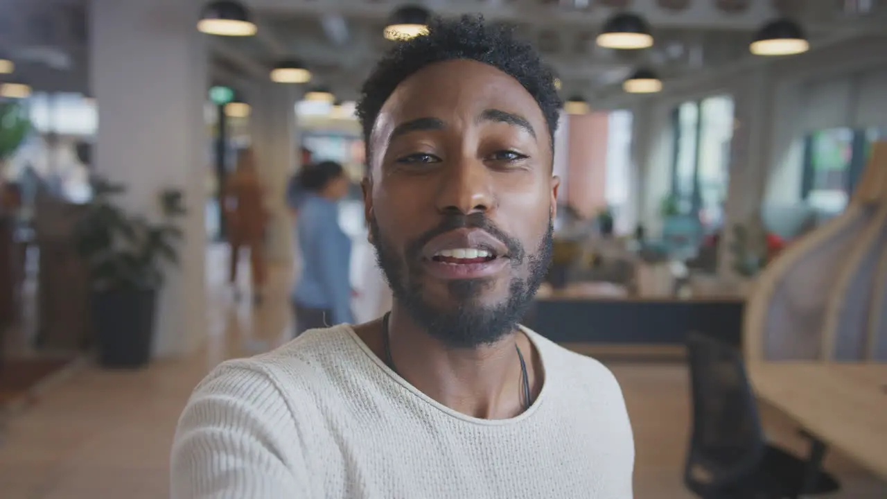
[[271,212],[268,259],[290,264],[293,260],[293,217],[287,207],[287,184],[301,159],[296,154],[295,93],[293,85],[256,83],[250,95],[250,128],[256,160],[266,188]]

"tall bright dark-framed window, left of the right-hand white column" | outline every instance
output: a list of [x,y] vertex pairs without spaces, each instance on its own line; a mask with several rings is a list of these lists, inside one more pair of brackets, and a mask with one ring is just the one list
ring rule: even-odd
[[673,115],[671,194],[681,212],[718,227],[729,181],[734,109],[729,96],[688,101]]

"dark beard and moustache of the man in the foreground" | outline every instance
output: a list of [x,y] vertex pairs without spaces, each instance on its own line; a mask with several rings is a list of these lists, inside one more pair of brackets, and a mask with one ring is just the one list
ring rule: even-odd
[[[426,329],[429,336],[451,348],[491,345],[514,331],[545,280],[552,260],[554,226],[551,216],[546,233],[535,252],[530,254],[520,242],[493,226],[483,213],[445,218],[439,226],[411,242],[403,256],[398,255],[393,245],[381,234],[375,218],[370,219],[369,226],[376,263],[385,275],[398,305],[403,305],[406,313]],[[432,303],[425,294],[421,283],[424,273],[421,251],[436,236],[467,227],[482,229],[505,243],[511,259],[509,266],[513,271],[508,283],[508,295],[498,304],[484,305],[482,295],[495,283],[492,278],[449,281],[447,287],[456,304],[444,308]],[[526,267],[526,277],[517,276],[522,266]]]

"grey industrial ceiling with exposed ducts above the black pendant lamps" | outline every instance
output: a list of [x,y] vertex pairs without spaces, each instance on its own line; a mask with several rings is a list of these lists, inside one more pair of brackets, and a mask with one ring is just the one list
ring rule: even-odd
[[[88,93],[87,0],[0,0],[0,49],[11,51],[35,87]],[[357,86],[390,42],[382,37],[392,0],[246,0],[258,35],[211,37],[216,83],[241,86],[267,78],[279,59],[302,59],[313,83],[354,99]],[[536,44],[563,83],[565,95],[594,99],[617,88],[636,67],[666,81],[749,57],[757,28],[781,12],[804,26],[811,43],[883,20],[878,0],[428,0],[445,17],[483,13],[513,25]],[[643,16],[655,45],[613,51],[594,44],[601,25],[622,10]],[[883,27],[883,24],[881,25]],[[883,28],[882,28],[883,31]]]

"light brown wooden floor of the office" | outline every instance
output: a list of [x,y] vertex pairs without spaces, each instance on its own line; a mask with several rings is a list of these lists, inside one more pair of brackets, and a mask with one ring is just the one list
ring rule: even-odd
[[[208,274],[224,269],[224,255],[208,258]],[[274,273],[262,312],[234,305],[211,282],[206,348],[191,357],[154,363],[135,373],[106,372],[89,364],[68,371],[15,416],[0,444],[3,499],[161,499],[168,497],[169,445],[192,387],[220,360],[262,352],[289,334],[286,286],[290,273]],[[635,497],[691,497],[681,483],[689,427],[687,369],[680,362],[613,361],[622,384],[637,448]],[[789,420],[763,408],[765,429],[798,452]],[[842,480],[836,497],[887,498],[887,484],[841,455],[827,466]],[[624,498],[606,498],[624,499]]]

